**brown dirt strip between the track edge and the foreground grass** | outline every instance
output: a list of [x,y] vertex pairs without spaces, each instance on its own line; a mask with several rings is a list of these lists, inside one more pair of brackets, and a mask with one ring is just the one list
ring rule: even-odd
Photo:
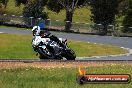
[[76,68],[76,67],[97,67],[97,66],[114,66],[114,65],[132,65],[131,62],[0,62],[0,69],[13,68]]

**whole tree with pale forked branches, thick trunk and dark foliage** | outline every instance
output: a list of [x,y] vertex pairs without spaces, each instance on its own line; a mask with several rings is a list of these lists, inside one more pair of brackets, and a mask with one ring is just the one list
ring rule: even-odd
[[54,12],[60,12],[62,9],[66,11],[65,21],[69,21],[65,25],[65,30],[69,31],[72,26],[72,18],[77,7],[84,5],[89,0],[49,0],[48,8]]

